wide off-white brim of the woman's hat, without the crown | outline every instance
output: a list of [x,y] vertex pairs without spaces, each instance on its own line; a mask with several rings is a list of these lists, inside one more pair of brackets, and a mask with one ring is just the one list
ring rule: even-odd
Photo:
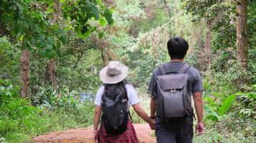
[[129,68],[127,66],[122,65],[122,72],[121,74],[116,74],[114,76],[109,76],[109,74],[106,74],[108,67],[105,66],[101,71],[99,72],[99,78],[101,79],[101,82],[104,84],[116,84],[121,82],[127,77]]

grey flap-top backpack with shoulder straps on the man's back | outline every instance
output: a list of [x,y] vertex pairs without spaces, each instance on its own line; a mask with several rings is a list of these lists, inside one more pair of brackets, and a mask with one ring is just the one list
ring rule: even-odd
[[184,64],[178,73],[174,73],[167,71],[165,64],[159,66],[161,75],[156,77],[157,117],[163,122],[186,119],[193,114],[188,74],[184,74],[189,67]]

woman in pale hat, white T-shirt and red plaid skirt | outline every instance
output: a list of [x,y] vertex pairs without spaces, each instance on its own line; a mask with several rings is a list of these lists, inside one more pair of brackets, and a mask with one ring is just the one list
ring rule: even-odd
[[[110,61],[99,73],[104,85],[99,88],[94,102],[93,137],[95,142],[139,142],[129,119],[129,105],[132,105],[134,111],[150,124],[151,128],[155,127],[155,122],[140,107],[140,100],[134,87],[124,80],[128,71],[129,68],[119,61]],[[101,126],[99,127],[100,116]]]

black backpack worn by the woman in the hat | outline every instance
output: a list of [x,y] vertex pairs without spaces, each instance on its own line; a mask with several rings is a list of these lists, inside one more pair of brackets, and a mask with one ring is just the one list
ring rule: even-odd
[[[123,86],[123,87],[122,87]],[[102,111],[101,121],[104,124],[107,134],[122,134],[127,130],[127,122],[129,119],[128,97],[125,84],[116,87],[115,94],[108,94],[108,87],[105,86],[102,95]]]

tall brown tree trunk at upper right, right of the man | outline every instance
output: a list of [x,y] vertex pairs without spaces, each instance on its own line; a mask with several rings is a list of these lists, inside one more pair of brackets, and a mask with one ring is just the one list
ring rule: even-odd
[[237,61],[243,68],[247,68],[247,0],[237,1],[237,14]]

